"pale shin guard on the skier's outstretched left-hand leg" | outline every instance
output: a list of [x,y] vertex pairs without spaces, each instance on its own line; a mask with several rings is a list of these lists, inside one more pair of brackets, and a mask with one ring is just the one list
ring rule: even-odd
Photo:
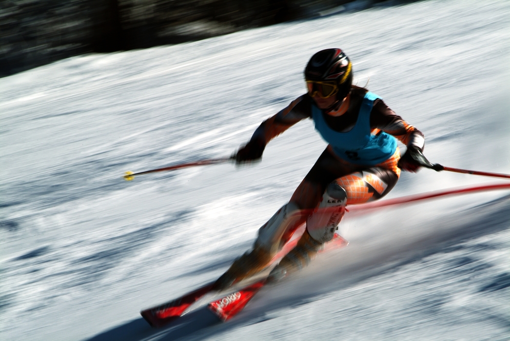
[[276,213],[259,229],[259,237],[255,241],[254,248],[264,248],[269,253],[276,253],[282,247],[284,233],[293,228],[299,220],[299,207],[294,202],[289,202],[278,209]]

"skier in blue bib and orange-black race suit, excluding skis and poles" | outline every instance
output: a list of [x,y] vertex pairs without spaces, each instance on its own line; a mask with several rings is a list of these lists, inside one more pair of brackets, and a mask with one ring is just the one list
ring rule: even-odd
[[[237,151],[236,162],[260,160],[271,139],[305,118],[314,121],[329,144],[290,201],[259,229],[253,249],[237,258],[215,282],[216,290],[263,270],[295,229],[306,222],[296,247],[272,270],[269,279],[278,280],[303,268],[333,239],[346,205],[385,196],[395,186],[400,169],[416,172],[421,166],[432,166],[422,154],[423,134],[380,97],[352,85],[352,65],[341,49],[329,48],[312,56],[304,77],[308,93],[262,122]],[[407,147],[402,158],[395,138]]]

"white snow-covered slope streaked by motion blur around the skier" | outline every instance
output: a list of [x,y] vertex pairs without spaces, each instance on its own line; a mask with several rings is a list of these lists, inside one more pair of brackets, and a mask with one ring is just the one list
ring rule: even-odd
[[[347,215],[348,247],[230,323],[154,330],[139,311],[220,275],[325,143],[308,120],[260,164],[121,178],[230,155],[335,46],[424,132],[429,160],[510,173],[509,38],[507,0],[424,1],[2,78],[0,339],[510,339],[508,192]],[[494,182],[422,170],[388,197]]]

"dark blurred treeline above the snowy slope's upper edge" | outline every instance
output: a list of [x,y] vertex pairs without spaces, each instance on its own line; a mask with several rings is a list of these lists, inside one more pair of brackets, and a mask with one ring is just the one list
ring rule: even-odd
[[0,76],[405,0],[0,0]]

